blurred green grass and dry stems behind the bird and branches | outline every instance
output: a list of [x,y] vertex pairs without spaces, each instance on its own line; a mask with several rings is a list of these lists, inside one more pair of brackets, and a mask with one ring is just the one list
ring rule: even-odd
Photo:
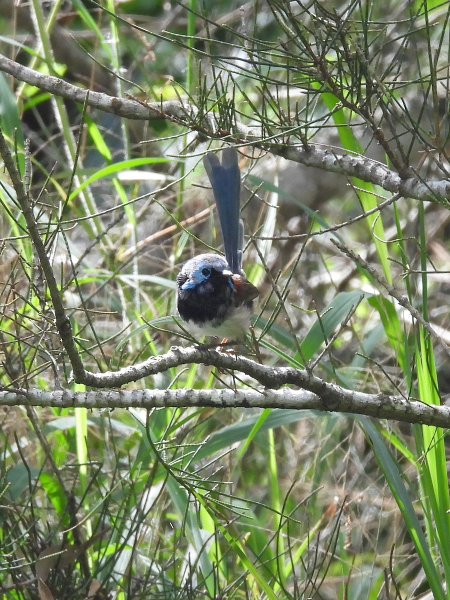
[[[449,16],[433,0],[0,0],[8,58],[198,109],[127,121],[0,73],[1,128],[22,172],[30,140],[34,214],[86,368],[186,343],[175,277],[220,250],[201,158],[227,142],[262,290],[249,352],[445,402],[448,355],[332,242],[448,344],[448,205],[282,156],[311,146],[448,179]],[[83,391],[3,169],[0,199],[1,389]],[[134,385],[251,382],[193,365]],[[0,422],[2,598],[450,597],[446,431],[293,410],[18,406]]]

